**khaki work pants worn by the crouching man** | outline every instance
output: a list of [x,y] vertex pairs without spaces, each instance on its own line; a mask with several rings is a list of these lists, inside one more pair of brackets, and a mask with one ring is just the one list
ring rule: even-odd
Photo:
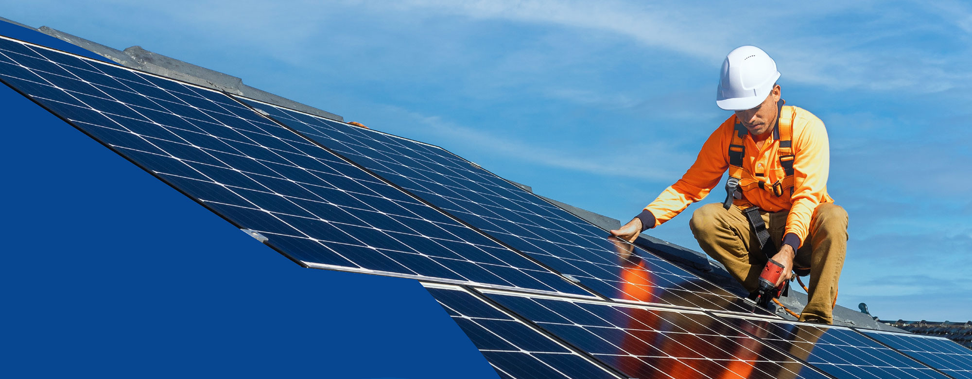
[[[774,251],[779,251],[789,212],[760,214],[770,232],[770,241],[776,247]],[[749,226],[741,208],[733,205],[726,210],[720,203],[703,205],[692,214],[689,226],[702,250],[722,263],[746,291],[752,293],[759,288],[759,274],[766,266],[767,258],[759,250],[756,232]],[[817,205],[810,223],[810,235],[793,259],[795,268],[810,268],[810,298],[800,321],[818,320],[833,324],[833,301],[844,268],[847,241],[848,214],[844,208],[833,203]]]

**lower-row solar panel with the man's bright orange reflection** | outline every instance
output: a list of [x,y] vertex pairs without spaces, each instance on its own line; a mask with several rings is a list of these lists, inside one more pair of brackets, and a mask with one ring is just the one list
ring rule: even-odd
[[825,378],[705,313],[482,291],[631,378]]

